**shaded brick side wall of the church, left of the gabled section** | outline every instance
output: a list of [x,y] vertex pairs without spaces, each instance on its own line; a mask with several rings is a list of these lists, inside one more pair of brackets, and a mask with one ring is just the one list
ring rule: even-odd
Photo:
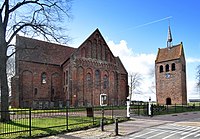
[[[19,100],[20,107],[30,107],[33,101],[65,100],[61,94],[62,69],[60,66],[20,61]],[[46,73],[46,83],[42,83],[41,75]],[[37,92],[36,92],[37,89]],[[52,94],[54,89],[54,94]],[[16,90],[16,89],[13,89]],[[17,103],[17,102],[15,102]]]

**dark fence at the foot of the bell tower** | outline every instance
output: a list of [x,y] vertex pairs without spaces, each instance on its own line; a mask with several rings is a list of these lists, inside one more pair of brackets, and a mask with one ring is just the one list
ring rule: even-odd
[[130,112],[132,116],[143,115],[149,116],[149,110],[151,110],[151,116],[162,115],[162,114],[172,114],[190,111],[200,111],[200,103],[188,103],[187,105],[159,105],[151,104],[149,108],[148,102],[133,102],[130,107]]

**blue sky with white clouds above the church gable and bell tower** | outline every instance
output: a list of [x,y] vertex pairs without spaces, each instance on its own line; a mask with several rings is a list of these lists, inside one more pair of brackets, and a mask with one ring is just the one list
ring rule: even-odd
[[196,67],[200,64],[199,0],[73,0],[72,19],[66,21],[69,46],[78,47],[99,29],[128,73],[140,73],[135,100],[156,100],[150,76],[158,48],[165,48],[170,25],[173,45],[183,42],[188,99],[200,98]]

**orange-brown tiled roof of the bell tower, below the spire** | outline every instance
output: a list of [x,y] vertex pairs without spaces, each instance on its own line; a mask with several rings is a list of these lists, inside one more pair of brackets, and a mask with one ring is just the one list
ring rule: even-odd
[[164,62],[164,61],[170,61],[181,58],[181,56],[184,56],[183,51],[183,44],[182,42],[178,45],[175,45],[173,47],[169,48],[162,48],[158,49],[158,54],[156,58],[156,63]]

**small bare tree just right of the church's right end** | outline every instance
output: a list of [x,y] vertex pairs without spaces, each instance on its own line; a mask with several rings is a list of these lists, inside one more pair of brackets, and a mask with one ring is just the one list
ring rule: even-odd
[[142,75],[139,73],[130,73],[129,74],[129,81],[130,81],[130,91],[129,91],[129,97],[131,101],[131,97],[133,95],[133,91],[139,88],[141,81],[142,81]]

